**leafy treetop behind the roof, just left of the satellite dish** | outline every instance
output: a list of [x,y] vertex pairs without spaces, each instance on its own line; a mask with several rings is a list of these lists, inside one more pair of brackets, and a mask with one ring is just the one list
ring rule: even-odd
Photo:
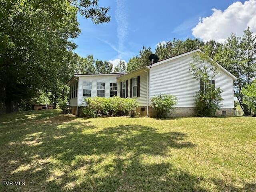
[[146,48],[145,46],[143,46],[142,50],[140,50],[139,56],[130,59],[129,62],[127,63],[127,71],[131,72],[140,67],[150,65],[150,61],[148,59],[150,54],[152,54],[151,48]]

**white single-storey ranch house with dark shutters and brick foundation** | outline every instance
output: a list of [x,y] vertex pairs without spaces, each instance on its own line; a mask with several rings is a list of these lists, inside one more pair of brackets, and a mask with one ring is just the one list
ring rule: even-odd
[[[150,98],[159,94],[172,94],[178,98],[176,110],[170,116],[193,116],[195,94],[200,83],[193,79],[190,63],[195,63],[192,54],[202,52],[196,49],[159,62],[144,66],[129,73],[75,74],[69,81],[71,113],[80,115],[79,108],[87,97],[136,98],[137,108],[142,115],[154,116]],[[199,65],[195,63],[196,65]],[[210,64],[209,64],[210,65]],[[233,81],[236,79],[228,70],[217,64],[219,74],[212,81],[222,92],[222,108],[219,115],[233,115]]]

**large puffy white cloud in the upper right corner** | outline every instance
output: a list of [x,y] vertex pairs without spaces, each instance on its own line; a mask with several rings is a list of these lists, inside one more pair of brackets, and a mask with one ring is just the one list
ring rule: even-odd
[[232,32],[237,36],[243,35],[247,26],[256,32],[256,1],[249,0],[243,3],[235,2],[226,10],[212,9],[209,17],[201,18],[192,34],[204,41],[217,40],[223,42]]

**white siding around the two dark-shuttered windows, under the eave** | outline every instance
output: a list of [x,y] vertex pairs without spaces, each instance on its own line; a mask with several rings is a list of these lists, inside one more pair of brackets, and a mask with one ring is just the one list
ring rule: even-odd
[[120,76],[118,78],[118,84],[120,85],[121,81],[128,80],[128,98],[130,98],[130,79],[140,76],[140,96],[135,97],[139,106],[147,106],[147,72],[145,72],[143,69],[138,70],[136,72],[131,72],[130,74],[126,74],[124,76]]

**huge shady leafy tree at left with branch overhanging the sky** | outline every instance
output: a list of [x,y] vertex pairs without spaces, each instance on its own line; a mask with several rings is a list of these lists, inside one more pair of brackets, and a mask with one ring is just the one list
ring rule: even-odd
[[77,12],[94,23],[110,19],[108,8],[99,7],[97,0],[1,1],[0,100],[6,112],[18,110],[38,90],[55,92],[56,82],[63,84],[74,73],[55,77],[74,69],[76,45],[70,38],[80,33]]

